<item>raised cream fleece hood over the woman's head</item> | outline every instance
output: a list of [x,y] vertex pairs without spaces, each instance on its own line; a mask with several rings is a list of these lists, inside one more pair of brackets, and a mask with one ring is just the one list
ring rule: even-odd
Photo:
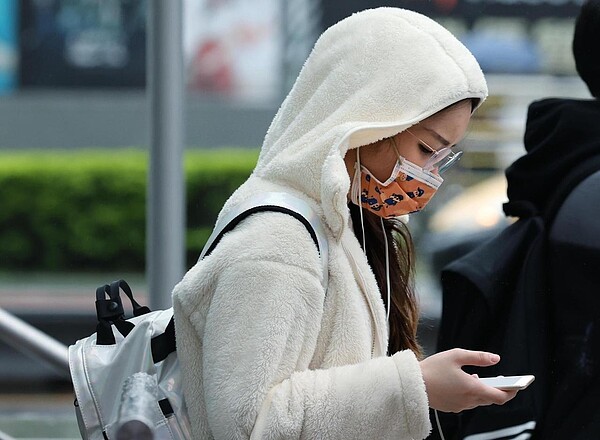
[[353,14],[315,44],[271,123],[253,175],[230,203],[252,194],[254,179],[280,184],[333,207],[324,215],[339,238],[348,223],[348,149],[486,96],[477,61],[436,22],[397,8]]

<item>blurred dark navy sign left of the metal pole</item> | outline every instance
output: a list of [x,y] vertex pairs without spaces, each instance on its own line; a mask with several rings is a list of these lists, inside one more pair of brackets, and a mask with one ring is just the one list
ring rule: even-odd
[[21,84],[142,87],[146,1],[22,0]]

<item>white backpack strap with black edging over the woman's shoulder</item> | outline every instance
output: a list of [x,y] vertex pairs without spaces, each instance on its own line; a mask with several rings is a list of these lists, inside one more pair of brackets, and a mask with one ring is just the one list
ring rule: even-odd
[[243,219],[261,211],[282,212],[289,214],[302,222],[310,233],[310,236],[319,251],[321,265],[323,267],[322,284],[325,291],[327,291],[329,252],[325,227],[319,216],[306,201],[282,192],[257,194],[255,197],[235,206],[225,216],[219,219],[212,234],[204,245],[204,249],[202,249],[202,252],[200,253],[199,260],[209,255],[223,235],[235,228]]

